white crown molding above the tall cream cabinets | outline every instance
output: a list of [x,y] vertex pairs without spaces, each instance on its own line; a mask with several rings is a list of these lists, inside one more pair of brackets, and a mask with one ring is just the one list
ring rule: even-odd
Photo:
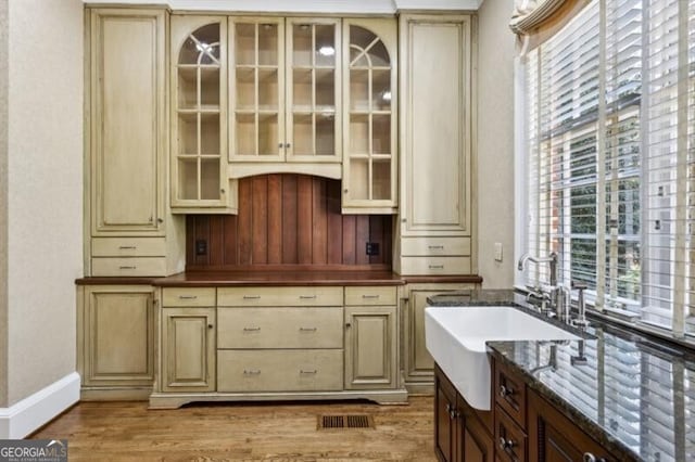
[[164,4],[172,10],[261,13],[393,14],[401,10],[478,10],[483,0],[83,0],[96,5]]

